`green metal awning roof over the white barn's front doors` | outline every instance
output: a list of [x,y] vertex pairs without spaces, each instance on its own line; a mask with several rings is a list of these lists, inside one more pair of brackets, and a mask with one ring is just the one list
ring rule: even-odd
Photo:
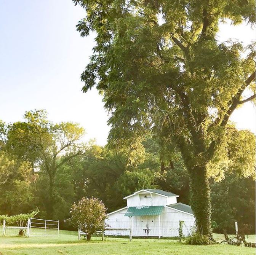
[[164,206],[130,206],[125,216],[160,215]]

